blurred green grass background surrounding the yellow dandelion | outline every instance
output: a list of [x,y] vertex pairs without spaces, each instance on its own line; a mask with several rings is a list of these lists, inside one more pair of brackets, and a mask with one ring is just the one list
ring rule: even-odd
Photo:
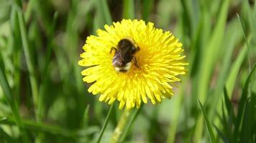
[[0,142],[96,141],[109,105],[77,63],[86,36],[122,19],[172,31],[190,65],[173,99],[132,109],[119,142],[256,142],[254,0],[0,0]]

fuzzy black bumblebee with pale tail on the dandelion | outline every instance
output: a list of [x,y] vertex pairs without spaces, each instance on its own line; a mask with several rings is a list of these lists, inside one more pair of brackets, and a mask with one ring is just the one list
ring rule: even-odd
[[134,54],[140,50],[135,41],[129,37],[121,39],[116,47],[111,47],[110,53],[114,50],[114,57],[112,59],[112,65],[114,69],[119,72],[127,72],[132,66],[132,61],[134,65],[138,66],[137,60]]

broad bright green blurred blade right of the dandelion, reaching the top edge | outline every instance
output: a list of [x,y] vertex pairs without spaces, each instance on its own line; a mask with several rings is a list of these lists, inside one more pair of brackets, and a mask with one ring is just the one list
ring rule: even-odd
[[[229,0],[223,1],[221,9],[219,12],[219,17],[216,22],[213,34],[209,41],[206,51],[201,59],[201,64],[199,66],[198,75],[198,98],[204,103],[206,101],[206,95],[209,89],[209,80],[211,73],[213,71],[214,64],[216,63],[216,58],[218,56],[218,51],[221,48],[221,42],[224,36],[224,29],[227,21],[227,14],[229,9]],[[196,130],[194,142],[200,142],[201,134],[203,132],[203,119],[199,115],[196,122]]]

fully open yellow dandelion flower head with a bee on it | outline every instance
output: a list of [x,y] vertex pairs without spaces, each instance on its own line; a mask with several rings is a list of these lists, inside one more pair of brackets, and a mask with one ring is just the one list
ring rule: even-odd
[[187,65],[178,39],[142,20],[123,19],[104,28],[87,37],[78,61],[87,67],[83,81],[93,83],[88,92],[100,94],[101,102],[119,101],[119,109],[173,97],[173,82]]

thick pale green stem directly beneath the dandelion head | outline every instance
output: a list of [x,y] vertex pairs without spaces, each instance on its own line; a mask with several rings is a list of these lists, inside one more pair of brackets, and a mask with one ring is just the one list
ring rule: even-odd
[[131,112],[130,109],[124,110],[124,113],[119,119],[116,129],[114,129],[114,133],[111,138],[111,143],[118,142],[120,135],[124,132],[124,127],[125,127],[125,124],[127,123],[127,119],[129,117],[130,112]]

